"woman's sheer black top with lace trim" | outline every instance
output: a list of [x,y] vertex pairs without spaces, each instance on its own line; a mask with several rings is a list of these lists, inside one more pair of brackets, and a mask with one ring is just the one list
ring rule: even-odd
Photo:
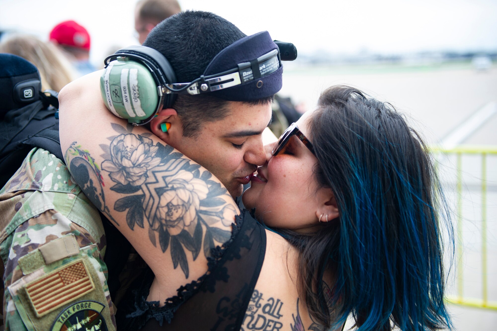
[[181,286],[163,307],[147,301],[154,279],[148,269],[135,282],[133,299],[118,308],[117,330],[240,330],[264,260],[266,234],[248,210],[236,223],[231,239],[212,249],[208,272]]

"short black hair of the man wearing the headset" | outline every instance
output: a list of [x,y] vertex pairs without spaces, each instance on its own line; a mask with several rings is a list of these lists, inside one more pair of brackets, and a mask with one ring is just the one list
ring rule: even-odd
[[[200,77],[211,60],[224,48],[246,37],[233,23],[205,11],[182,11],[158,24],[144,46],[161,52],[176,75],[186,83]],[[273,96],[247,102],[271,102]],[[218,121],[229,114],[229,101],[211,95],[180,95],[173,104],[183,125],[183,135],[195,137],[202,123]]]

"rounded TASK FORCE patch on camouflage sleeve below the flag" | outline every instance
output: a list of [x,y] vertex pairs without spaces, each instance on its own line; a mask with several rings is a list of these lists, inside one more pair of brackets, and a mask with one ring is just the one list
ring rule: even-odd
[[80,301],[72,304],[57,316],[51,331],[107,331],[100,313],[105,308],[96,301]]

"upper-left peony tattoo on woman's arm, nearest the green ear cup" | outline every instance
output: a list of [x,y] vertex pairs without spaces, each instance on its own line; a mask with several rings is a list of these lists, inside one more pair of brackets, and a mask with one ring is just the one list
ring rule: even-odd
[[134,134],[121,134],[110,144],[111,160],[102,163],[109,177],[122,185],[140,186],[147,179],[147,171],[159,165],[158,147],[151,139]]

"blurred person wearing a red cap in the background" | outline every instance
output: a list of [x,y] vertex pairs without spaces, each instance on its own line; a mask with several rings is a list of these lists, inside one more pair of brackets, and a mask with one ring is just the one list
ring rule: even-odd
[[90,35],[75,21],[57,24],[50,32],[50,41],[58,45],[78,70],[80,76],[96,70],[89,62]]

